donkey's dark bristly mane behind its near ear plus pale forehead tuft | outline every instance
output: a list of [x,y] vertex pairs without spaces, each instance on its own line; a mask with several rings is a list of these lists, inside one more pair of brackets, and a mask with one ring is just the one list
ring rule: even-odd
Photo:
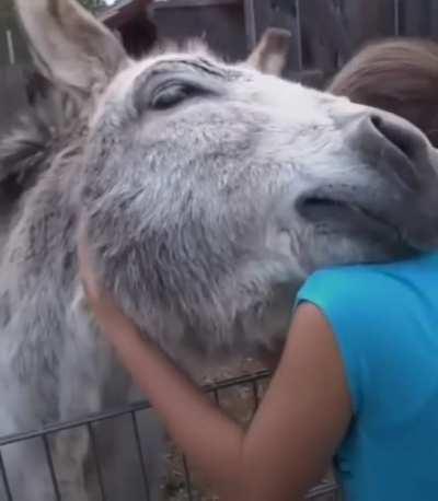
[[[187,51],[221,60],[198,38],[178,44],[161,40],[148,57]],[[57,154],[66,149],[81,151],[81,138],[87,133],[92,107],[88,98],[56,86],[37,70],[27,83],[28,104],[10,131],[0,138],[0,194],[8,203],[19,201],[35,186]]]

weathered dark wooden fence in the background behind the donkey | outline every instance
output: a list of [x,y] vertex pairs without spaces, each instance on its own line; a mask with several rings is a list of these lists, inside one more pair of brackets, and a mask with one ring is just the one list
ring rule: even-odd
[[[367,40],[438,39],[438,0],[165,0],[153,5],[159,38],[200,36],[230,60],[245,57],[266,27],[287,27],[292,39],[286,77],[318,88]],[[0,133],[24,103],[26,69],[21,61],[0,65]]]

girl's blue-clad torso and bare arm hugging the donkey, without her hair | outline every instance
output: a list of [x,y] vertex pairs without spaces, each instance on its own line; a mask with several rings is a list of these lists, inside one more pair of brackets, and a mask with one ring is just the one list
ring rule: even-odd
[[102,330],[221,500],[300,500],[333,457],[347,501],[437,499],[438,254],[310,277],[246,431],[140,337],[83,243],[80,265]]

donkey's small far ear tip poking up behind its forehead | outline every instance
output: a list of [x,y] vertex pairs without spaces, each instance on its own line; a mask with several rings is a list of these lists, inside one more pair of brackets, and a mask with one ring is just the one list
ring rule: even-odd
[[262,73],[279,77],[287,62],[291,36],[287,30],[267,28],[258,45],[246,59],[246,65]]

